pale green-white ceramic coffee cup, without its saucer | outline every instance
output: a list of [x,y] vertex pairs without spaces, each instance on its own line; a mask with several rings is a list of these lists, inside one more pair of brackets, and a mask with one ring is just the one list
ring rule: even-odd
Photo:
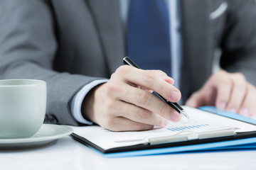
[[31,137],[46,115],[46,82],[0,80],[0,139]]

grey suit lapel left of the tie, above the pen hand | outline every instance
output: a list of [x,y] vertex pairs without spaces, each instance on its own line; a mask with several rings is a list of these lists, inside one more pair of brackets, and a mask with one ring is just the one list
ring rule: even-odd
[[122,58],[125,57],[124,33],[119,18],[118,0],[87,0],[87,4],[94,16],[105,60],[112,73],[122,64]]

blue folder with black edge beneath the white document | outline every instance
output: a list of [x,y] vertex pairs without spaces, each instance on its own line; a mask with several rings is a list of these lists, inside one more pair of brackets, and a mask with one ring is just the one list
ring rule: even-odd
[[[230,113],[223,111],[213,106],[204,106],[200,108],[202,111],[215,113],[242,122],[251,123],[256,125],[256,120],[247,118],[237,113]],[[103,157],[134,157],[142,155],[154,155],[154,154],[174,154],[178,152],[196,152],[196,151],[210,151],[210,150],[224,150],[224,149],[256,149],[256,132],[243,132],[233,137],[219,137],[218,139],[198,140],[178,142],[176,144],[162,144],[156,146],[143,146],[136,145],[130,147],[116,148],[110,150],[103,150],[97,145],[94,145],[89,140],[86,140],[79,135],[71,135],[75,140],[82,142],[83,144],[92,147],[97,152],[100,152]]]

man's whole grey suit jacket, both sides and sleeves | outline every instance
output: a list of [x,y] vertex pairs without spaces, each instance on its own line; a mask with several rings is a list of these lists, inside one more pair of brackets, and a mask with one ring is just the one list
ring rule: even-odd
[[[210,76],[216,48],[223,69],[256,84],[255,1],[179,2],[183,98]],[[70,113],[73,96],[90,81],[109,78],[126,55],[118,3],[1,0],[0,79],[45,80],[46,122],[79,125]]]

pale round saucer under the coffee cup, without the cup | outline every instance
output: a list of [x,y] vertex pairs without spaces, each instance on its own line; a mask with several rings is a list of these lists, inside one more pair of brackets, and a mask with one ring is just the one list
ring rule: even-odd
[[64,125],[43,124],[35,135],[28,138],[0,139],[0,149],[22,149],[38,147],[57,140],[60,137],[70,135],[72,128]]

